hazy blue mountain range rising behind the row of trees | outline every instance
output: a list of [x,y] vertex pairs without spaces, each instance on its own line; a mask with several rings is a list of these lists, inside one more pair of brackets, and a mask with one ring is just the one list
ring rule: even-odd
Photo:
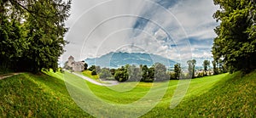
[[122,65],[148,65],[151,66],[156,62],[172,67],[176,64],[172,59],[166,59],[160,55],[149,53],[123,53],[112,52],[102,55],[99,58],[85,59],[88,65],[100,65],[101,67],[118,68]]

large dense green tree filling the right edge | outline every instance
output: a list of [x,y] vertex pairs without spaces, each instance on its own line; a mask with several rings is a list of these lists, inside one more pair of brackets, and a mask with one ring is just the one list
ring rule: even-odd
[[256,69],[256,3],[255,0],[213,0],[220,9],[213,18],[221,20],[215,28],[212,54],[223,58],[231,70],[249,72]]

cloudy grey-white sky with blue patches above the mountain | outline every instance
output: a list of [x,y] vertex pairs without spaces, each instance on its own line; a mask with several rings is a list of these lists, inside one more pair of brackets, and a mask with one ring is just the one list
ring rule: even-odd
[[212,0],[73,0],[61,61],[120,51],[210,59],[217,9]]

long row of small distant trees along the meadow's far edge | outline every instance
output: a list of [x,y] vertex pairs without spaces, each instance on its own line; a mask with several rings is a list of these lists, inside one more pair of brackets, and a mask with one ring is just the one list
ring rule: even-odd
[[[221,60],[221,59],[220,59]],[[217,75],[218,73],[223,73],[223,64],[216,61],[212,61],[213,65],[213,74]],[[210,61],[204,60],[203,67],[204,69],[202,72],[198,72],[195,75],[195,65],[196,60],[188,60],[188,73],[183,73],[181,65],[176,64],[174,65],[174,70],[168,71],[165,65],[160,63],[155,63],[151,67],[147,65],[140,65],[137,67],[136,65],[125,65],[121,66],[118,69],[109,69],[109,68],[102,68],[100,66],[91,65],[88,70],[92,71],[91,75],[97,75],[101,79],[105,80],[117,80],[117,81],[165,81],[165,80],[178,80],[178,79],[189,79],[195,77],[202,77],[209,75],[209,67]],[[86,63],[84,65],[87,65]],[[87,66],[84,66],[84,69],[87,69]]]

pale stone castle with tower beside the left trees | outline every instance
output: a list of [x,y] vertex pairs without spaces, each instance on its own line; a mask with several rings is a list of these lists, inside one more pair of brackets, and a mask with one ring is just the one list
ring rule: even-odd
[[66,68],[72,69],[73,71],[83,71],[84,70],[84,62],[78,61],[76,62],[73,56],[70,56],[67,60]]

